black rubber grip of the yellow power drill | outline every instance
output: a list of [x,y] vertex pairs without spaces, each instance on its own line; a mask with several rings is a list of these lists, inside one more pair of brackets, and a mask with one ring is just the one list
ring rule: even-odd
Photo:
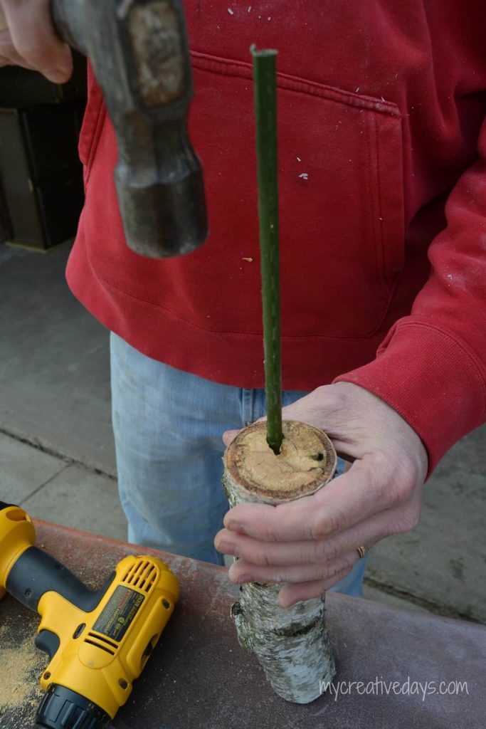
[[[109,578],[113,580],[114,574]],[[51,555],[39,547],[28,547],[15,562],[7,577],[7,592],[37,612],[42,595],[53,591],[85,612],[93,610],[106,588],[90,590]]]

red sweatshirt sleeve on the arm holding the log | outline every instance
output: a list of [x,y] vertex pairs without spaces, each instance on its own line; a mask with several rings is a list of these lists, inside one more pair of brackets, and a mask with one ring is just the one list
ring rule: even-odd
[[410,316],[373,362],[338,377],[388,402],[420,435],[429,475],[463,435],[486,421],[486,122],[479,160],[458,180],[447,227],[429,248],[431,275]]

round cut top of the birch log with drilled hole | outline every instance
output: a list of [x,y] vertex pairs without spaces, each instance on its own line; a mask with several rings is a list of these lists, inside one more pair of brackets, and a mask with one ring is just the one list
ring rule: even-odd
[[[322,431],[299,421],[283,421],[281,452],[267,443],[267,424],[242,430],[224,456],[227,475],[255,500],[278,504],[313,494],[336,468],[336,452]],[[246,500],[246,499],[245,499]]]

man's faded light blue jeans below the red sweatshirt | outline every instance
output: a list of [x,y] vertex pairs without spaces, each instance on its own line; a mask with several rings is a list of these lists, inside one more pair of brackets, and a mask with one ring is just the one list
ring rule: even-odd
[[[265,414],[264,390],[175,370],[111,334],[111,399],[118,488],[128,540],[214,564],[228,502],[222,433]],[[283,405],[305,395],[283,391]],[[341,462],[342,467],[342,462]],[[366,558],[333,590],[361,596]]]

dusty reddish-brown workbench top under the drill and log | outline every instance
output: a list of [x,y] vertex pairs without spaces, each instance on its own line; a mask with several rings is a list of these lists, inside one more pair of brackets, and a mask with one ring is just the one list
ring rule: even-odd
[[[36,534],[39,546],[93,588],[124,555],[151,552],[44,522],[36,522]],[[230,618],[238,590],[226,570],[160,556],[179,577],[181,601],[112,729],[485,729],[484,626],[329,593],[334,685],[345,682],[340,686],[346,693],[297,706],[273,693],[254,657],[238,645]],[[0,637],[10,648],[25,650],[31,641],[34,655],[38,623],[37,615],[9,596],[0,601]],[[34,729],[46,663],[44,654],[35,658],[20,705],[0,706],[1,729]],[[359,695],[355,684],[348,695],[348,681],[363,682],[366,693]],[[442,681],[442,690],[453,693],[424,698],[414,684],[428,682],[432,691],[431,682],[439,690]],[[455,681],[467,682],[467,689],[455,691]],[[390,682],[397,685],[387,693]],[[403,686],[405,693],[398,693]]]

